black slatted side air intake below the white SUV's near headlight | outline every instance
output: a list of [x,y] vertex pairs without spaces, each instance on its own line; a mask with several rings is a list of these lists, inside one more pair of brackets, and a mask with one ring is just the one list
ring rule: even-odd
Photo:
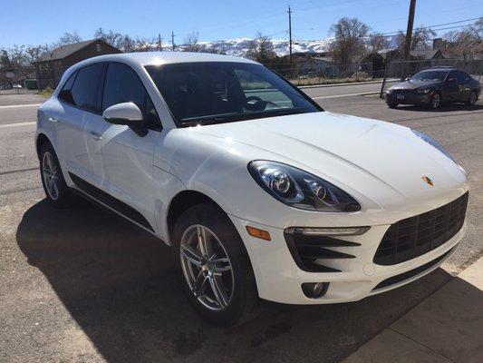
[[284,232],[288,250],[297,266],[308,272],[341,272],[324,265],[328,260],[354,259],[349,253],[332,250],[331,247],[357,247],[360,243],[337,240],[328,236],[304,235],[297,228],[288,228]]

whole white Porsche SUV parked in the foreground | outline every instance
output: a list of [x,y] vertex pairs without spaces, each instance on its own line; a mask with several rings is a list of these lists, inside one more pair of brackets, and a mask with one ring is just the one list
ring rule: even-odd
[[206,318],[258,298],[354,301],[435,270],[463,235],[466,172],[430,136],[329,113],[261,64],[102,55],[38,110],[56,207],[80,194],[172,248]]

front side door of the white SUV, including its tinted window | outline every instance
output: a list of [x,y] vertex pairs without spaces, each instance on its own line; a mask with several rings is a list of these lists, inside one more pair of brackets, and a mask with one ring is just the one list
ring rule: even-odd
[[127,64],[110,63],[103,85],[101,111],[132,102],[143,114],[143,127],[107,123],[101,114],[88,123],[89,152],[95,155],[97,186],[115,201],[111,207],[154,230],[154,147],[161,130],[158,113],[138,74]]

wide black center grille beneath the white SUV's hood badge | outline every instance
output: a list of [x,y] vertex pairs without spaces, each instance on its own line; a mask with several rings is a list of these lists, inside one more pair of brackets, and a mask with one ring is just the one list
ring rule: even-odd
[[378,265],[414,259],[450,240],[463,227],[468,192],[455,201],[391,225],[374,256]]

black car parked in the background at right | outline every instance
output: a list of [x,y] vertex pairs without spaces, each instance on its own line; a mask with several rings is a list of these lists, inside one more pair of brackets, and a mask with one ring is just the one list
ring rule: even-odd
[[474,104],[481,86],[469,74],[450,67],[434,67],[394,84],[386,92],[386,103],[428,105],[437,109],[442,103]]

